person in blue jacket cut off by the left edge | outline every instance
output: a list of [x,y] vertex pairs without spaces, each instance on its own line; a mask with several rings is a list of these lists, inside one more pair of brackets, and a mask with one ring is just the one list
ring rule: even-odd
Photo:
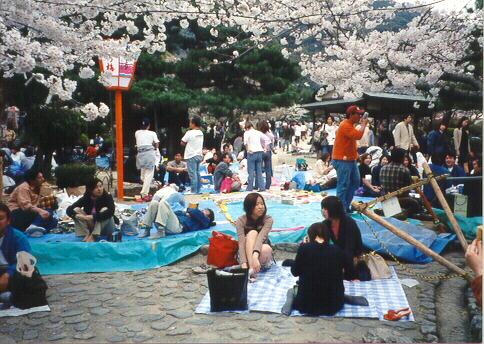
[[0,203],[0,293],[7,291],[8,281],[17,270],[17,252],[30,253],[30,244],[21,231],[10,225],[10,209]]

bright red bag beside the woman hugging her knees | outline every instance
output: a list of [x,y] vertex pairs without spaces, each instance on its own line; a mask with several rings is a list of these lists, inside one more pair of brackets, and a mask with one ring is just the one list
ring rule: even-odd
[[239,244],[232,236],[217,231],[212,232],[212,237],[208,239],[207,264],[218,268],[237,265],[237,250]]

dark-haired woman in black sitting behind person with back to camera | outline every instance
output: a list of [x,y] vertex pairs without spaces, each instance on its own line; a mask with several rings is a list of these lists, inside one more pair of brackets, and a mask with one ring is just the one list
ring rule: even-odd
[[344,252],[344,278],[346,280],[368,280],[368,268],[357,266],[355,259],[363,253],[361,233],[355,220],[346,215],[343,203],[336,196],[328,196],[321,201],[323,221],[330,229],[331,241]]

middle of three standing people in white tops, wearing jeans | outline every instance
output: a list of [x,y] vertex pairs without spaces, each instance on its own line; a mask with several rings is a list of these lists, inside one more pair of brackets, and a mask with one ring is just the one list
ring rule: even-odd
[[200,163],[203,160],[203,132],[200,130],[202,120],[194,116],[190,120],[190,130],[182,137],[180,144],[185,147],[185,161],[188,165],[188,176],[192,193],[200,193]]

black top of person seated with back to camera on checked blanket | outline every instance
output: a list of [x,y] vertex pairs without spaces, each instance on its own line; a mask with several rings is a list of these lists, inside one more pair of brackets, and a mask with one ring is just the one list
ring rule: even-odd
[[343,308],[343,251],[336,245],[311,242],[299,246],[291,267],[299,276],[294,308],[310,315],[333,315]]

